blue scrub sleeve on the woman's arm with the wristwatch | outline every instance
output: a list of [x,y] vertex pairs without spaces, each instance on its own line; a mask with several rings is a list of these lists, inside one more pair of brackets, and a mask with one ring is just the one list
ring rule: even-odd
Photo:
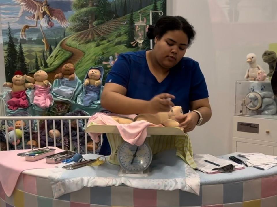
[[198,62],[195,62],[194,64],[190,83],[190,101],[196,101],[209,97],[207,84]]

